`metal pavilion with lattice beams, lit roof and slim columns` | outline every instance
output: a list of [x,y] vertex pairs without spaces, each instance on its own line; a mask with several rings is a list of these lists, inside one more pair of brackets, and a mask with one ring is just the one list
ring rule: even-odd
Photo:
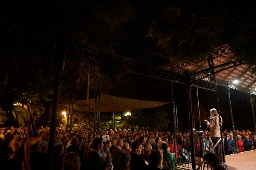
[[[90,65],[103,66],[107,68],[112,68],[120,71],[127,71],[129,73],[135,73],[143,76],[148,76],[152,78],[158,78],[162,80],[171,81],[174,83],[180,83],[187,87],[188,92],[188,104],[189,104],[189,116],[190,116],[190,131],[193,132],[193,113],[192,113],[192,99],[191,99],[191,90],[193,87],[203,88],[206,90],[215,91],[217,95],[217,110],[219,111],[219,98],[217,92],[217,85],[222,85],[227,87],[229,94],[229,89],[235,89],[248,94],[256,94],[256,91],[253,90],[256,87],[256,78],[255,76],[251,77],[250,69],[251,66],[247,66],[243,61],[237,61],[234,57],[234,53],[229,50],[228,45],[220,45],[215,48],[210,57],[205,58],[203,61],[200,61],[198,64],[190,63],[187,61],[180,63],[170,63],[165,66],[158,67],[150,64],[143,63],[141,61],[136,61],[134,59],[129,59],[126,57],[118,56],[115,54],[109,54],[108,57],[103,59],[89,59],[86,57],[81,57],[77,59],[72,59],[80,61]],[[56,71],[56,82],[55,82],[55,94],[59,93],[58,88],[60,87],[60,78],[61,71],[63,68],[63,62],[65,61],[65,54],[63,58],[59,61],[57,71]],[[232,80],[237,80],[237,84],[232,83]],[[174,107],[174,97],[173,97],[173,87],[172,89],[172,106],[173,106],[173,119],[175,119],[175,107]],[[198,95],[198,94],[197,94]],[[53,111],[58,109],[59,98],[53,97]],[[197,104],[198,104],[197,99]],[[235,136],[235,129],[232,116],[232,106],[230,102],[229,94],[229,106],[233,126],[233,135]],[[251,100],[251,107],[253,112],[254,124],[256,127],[256,121],[254,116],[254,110]],[[54,118],[51,118],[54,119]],[[175,120],[173,120],[175,122]],[[54,127],[56,123],[52,123],[51,126]],[[176,131],[176,128],[174,129]],[[255,130],[256,131],[256,130]],[[52,139],[53,140],[53,139]],[[53,142],[53,141],[52,141]],[[193,133],[190,135],[191,142],[191,157],[192,157],[192,168],[196,169],[195,165],[195,146],[194,146],[194,137]],[[50,143],[50,140],[49,140]],[[239,153],[237,149],[236,138],[234,137],[235,143],[235,153]],[[223,153],[224,155],[224,153]]]

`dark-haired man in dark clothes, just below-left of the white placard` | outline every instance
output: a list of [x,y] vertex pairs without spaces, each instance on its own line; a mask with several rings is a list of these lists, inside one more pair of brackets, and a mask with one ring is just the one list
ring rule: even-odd
[[104,170],[104,165],[101,160],[100,152],[103,150],[104,144],[102,138],[93,139],[93,149],[94,151],[90,154],[87,159],[87,169],[88,170]]

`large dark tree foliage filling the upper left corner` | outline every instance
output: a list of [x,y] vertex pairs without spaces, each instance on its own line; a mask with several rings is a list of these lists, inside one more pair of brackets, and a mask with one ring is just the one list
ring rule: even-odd
[[135,15],[125,0],[0,4],[0,107],[12,113],[24,93],[50,98],[55,67],[69,59],[115,52],[119,26]]

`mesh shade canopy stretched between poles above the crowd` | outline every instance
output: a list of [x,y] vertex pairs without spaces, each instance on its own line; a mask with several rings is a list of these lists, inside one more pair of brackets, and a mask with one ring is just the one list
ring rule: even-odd
[[[97,97],[97,109],[98,109],[98,99]],[[151,102],[145,100],[137,99],[127,99],[123,97],[110,96],[107,94],[101,94],[100,96],[100,112],[126,112],[132,110],[141,110],[147,108],[154,108],[163,106],[170,102]],[[68,105],[64,105],[67,106]],[[73,104],[73,109],[79,111],[94,111],[94,99],[90,100],[76,100]]]

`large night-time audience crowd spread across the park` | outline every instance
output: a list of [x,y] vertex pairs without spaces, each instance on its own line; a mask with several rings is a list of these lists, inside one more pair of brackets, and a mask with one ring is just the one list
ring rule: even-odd
[[[20,169],[26,128],[10,127],[0,129],[1,165],[7,169]],[[41,126],[37,130],[39,142],[31,147],[29,165],[31,170],[44,169],[46,160],[49,127]],[[82,170],[143,170],[143,169],[176,169],[181,146],[190,147],[190,132],[178,132],[176,141],[173,135],[167,132],[149,132],[149,130],[100,130],[100,135],[93,137],[93,128],[73,128],[71,133],[63,128],[56,127],[55,149],[53,158],[54,170],[69,170],[74,167]],[[108,135],[109,140],[102,136]],[[233,135],[224,130],[225,154],[234,151]],[[254,132],[236,131],[238,149],[240,152],[256,149]],[[211,151],[210,132],[205,132],[205,151]],[[209,140],[210,139],[210,140]],[[195,147],[200,150],[199,141],[195,140]],[[23,149],[23,150],[22,150]],[[197,151],[197,149],[196,149]],[[196,154],[199,154],[196,152]],[[197,155],[199,157],[199,155]],[[3,167],[3,166],[2,166]]]

